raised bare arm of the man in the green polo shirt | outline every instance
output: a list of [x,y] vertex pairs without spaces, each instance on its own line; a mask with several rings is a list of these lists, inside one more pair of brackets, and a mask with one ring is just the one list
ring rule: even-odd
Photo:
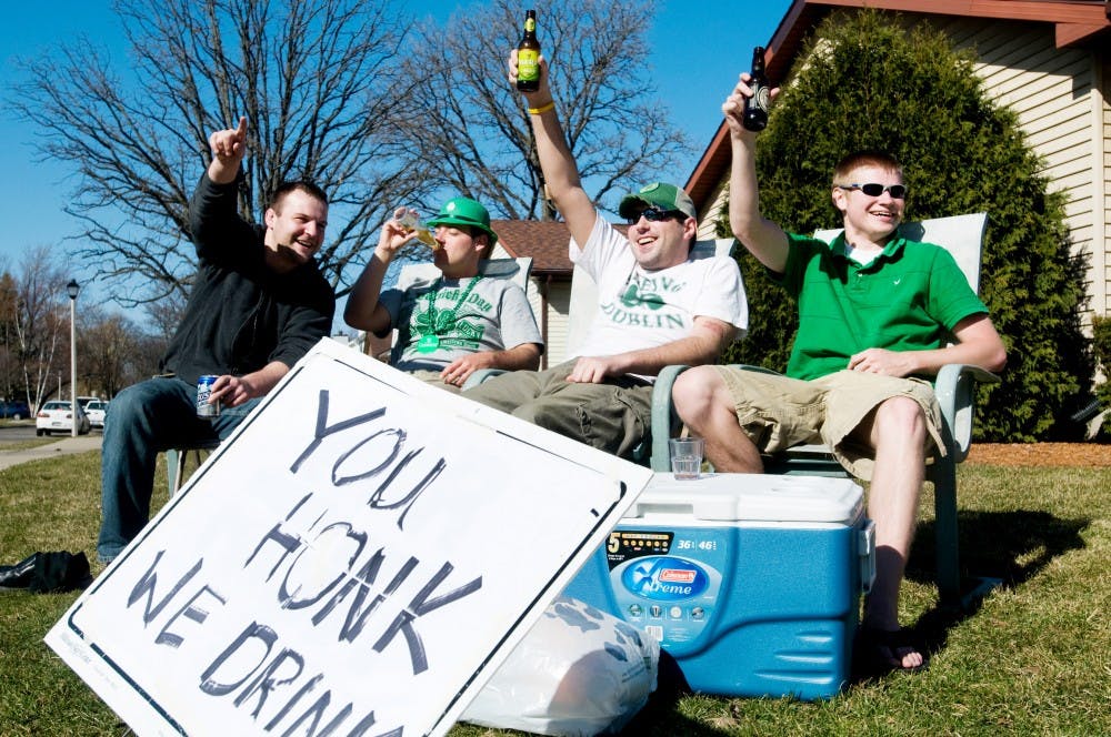
[[[760,214],[760,191],[757,182],[757,134],[741,124],[744,100],[752,97],[747,84],[750,79],[743,73],[733,88],[721,112],[729,125],[733,164],[729,178],[729,226],[737,240],[754,255],[760,263],[777,273],[787,269],[787,233],[777,223]],[[772,90],[772,95],[779,90]]]

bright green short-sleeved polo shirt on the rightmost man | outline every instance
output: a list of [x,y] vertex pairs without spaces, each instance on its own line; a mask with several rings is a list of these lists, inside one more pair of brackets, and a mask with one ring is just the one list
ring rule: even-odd
[[870,264],[832,243],[788,234],[783,274],[771,274],[799,303],[799,331],[787,373],[818,378],[845,368],[870,347],[939,349],[964,317],[988,309],[943,248],[895,236]]

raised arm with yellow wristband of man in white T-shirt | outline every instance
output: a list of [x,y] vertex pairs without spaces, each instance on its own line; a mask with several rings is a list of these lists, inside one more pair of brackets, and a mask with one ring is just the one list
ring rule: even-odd
[[[509,57],[509,81],[517,85],[517,50]],[[598,211],[590,201],[579,179],[579,166],[574,162],[567,138],[559,124],[559,115],[548,87],[548,61],[540,57],[540,87],[536,92],[522,92],[529,107],[529,119],[537,142],[540,169],[544,173],[548,192],[563,215],[571,238],[580,246],[590,238]]]

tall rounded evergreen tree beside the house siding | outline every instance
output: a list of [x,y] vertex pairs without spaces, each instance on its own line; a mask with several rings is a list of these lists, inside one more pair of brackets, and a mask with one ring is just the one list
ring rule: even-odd
[[[1015,115],[988,98],[972,64],[971,52],[928,27],[907,30],[871,10],[828,18],[758,139],[761,206],[793,232],[840,226],[834,164],[881,149],[904,166],[907,220],[989,213],[980,296],[1008,365],[1001,384],[978,390],[977,434],[1044,440],[1064,432],[1091,384],[1084,264],[1070,252],[1063,196],[1048,192]],[[740,261],[751,329],[727,360],[782,371],[794,305],[748,253]]]

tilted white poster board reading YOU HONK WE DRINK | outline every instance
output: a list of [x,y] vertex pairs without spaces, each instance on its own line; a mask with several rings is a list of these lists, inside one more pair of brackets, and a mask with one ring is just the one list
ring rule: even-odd
[[139,735],[442,735],[650,477],[324,340],[47,643]]

